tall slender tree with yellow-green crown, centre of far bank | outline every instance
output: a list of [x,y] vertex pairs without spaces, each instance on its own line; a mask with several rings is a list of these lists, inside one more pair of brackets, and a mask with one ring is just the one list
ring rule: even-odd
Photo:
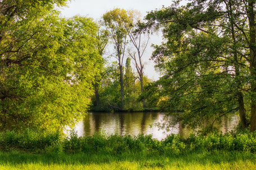
[[116,59],[118,61],[120,72],[120,87],[121,87],[121,108],[124,107],[124,71],[123,64],[125,58],[125,49],[127,45],[127,24],[131,23],[131,17],[125,10],[116,8],[108,11],[103,15],[104,23],[109,30],[109,35],[113,40],[116,50]]

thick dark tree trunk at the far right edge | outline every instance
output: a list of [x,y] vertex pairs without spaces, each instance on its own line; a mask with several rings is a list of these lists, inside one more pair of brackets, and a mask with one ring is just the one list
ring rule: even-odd
[[250,43],[249,43],[249,49],[250,49],[250,74],[252,76],[252,79],[250,81],[251,83],[251,119],[250,119],[250,131],[256,130],[256,60],[255,60],[255,54],[256,54],[256,35],[255,35],[255,14],[254,14],[254,5],[255,1],[250,0],[248,2],[248,18],[249,18],[249,30],[250,30]]

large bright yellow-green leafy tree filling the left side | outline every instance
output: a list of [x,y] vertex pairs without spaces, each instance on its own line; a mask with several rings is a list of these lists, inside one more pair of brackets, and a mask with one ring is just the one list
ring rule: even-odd
[[98,72],[97,26],[63,19],[66,1],[1,1],[0,128],[57,130],[75,125]]

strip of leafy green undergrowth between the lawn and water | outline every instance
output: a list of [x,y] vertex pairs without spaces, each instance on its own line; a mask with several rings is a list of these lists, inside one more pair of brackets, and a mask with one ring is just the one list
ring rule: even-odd
[[93,136],[78,137],[75,131],[71,131],[70,137],[61,138],[60,133],[39,134],[31,130],[24,133],[6,131],[0,134],[1,150],[19,149],[25,152],[46,153],[164,153],[166,155],[179,155],[199,150],[227,150],[228,152],[239,150],[241,152],[256,153],[256,133],[212,133],[206,136],[190,135],[184,139],[180,135],[170,135],[161,141],[153,139],[151,135],[138,136],[106,136],[97,133]]

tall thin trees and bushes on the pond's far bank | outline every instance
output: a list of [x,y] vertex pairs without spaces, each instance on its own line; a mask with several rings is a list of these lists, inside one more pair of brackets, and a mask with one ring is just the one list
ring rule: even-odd
[[[149,42],[149,31],[143,30],[139,12],[116,8],[104,13],[99,25],[98,50],[99,54],[106,57],[102,61],[100,77],[94,83],[95,96],[90,110],[154,109],[157,101],[140,97],[144,92],[144,85],[150,79],[144,75],[143,60]],[[135,72],[131,63],[134,64]]]

